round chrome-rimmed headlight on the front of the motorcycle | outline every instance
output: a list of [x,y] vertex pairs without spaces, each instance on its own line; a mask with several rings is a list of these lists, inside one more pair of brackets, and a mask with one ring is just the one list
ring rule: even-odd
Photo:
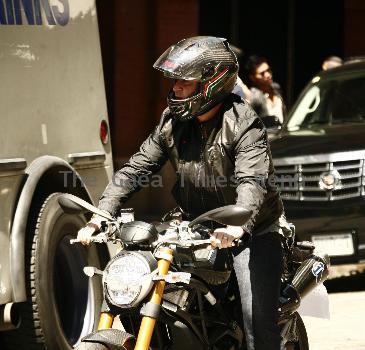
[[151,290],[151,272],[156,268],[157,261],[150,252],[117,254],[104,270],[105,296],[118,307],[136,306]]

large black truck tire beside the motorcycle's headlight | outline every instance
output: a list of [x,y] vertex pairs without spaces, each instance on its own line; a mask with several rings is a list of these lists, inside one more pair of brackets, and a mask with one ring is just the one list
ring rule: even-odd
[[51,194],[30,225],[25,245],[27,302],[19,305],[20,328],[5,334],[8,350],[73,349],[97,324],[101,280],[88,279],[83,267],[100,268],[98,252],[96,246],[70,245],[86,220],[81,214],[64,213],[60,195]]

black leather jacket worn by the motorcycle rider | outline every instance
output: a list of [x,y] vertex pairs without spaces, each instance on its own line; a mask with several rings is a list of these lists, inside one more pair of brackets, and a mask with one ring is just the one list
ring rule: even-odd
[[194,216],[238,203],[253,214],[245,230],[255,234],[283,212],[264,126],[238,96],[226,98],[207,122],[179,122],[166,109],[140,150],[117,171],[99,208],[115,215],[150,176],[170,160],[177,174],[176,202]]

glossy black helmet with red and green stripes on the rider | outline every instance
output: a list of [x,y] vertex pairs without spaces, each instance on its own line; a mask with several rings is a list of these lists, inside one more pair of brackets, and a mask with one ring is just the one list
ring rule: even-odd
[[212,36],[179,41],[153,67],[168,78],[200,82],[193,96],[178,99],[172,90],[167,96],[171,113],[181,121],[197,117],[221,102],[232,92],[238,72],[237,58],[228,41]]

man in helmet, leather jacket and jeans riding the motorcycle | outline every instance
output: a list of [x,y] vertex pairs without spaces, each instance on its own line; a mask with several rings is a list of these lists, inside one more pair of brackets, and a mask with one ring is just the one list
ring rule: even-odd
[[[115,215],[139,189],[139,178],[170,160],[177,174],[173,195],[187,215],[235,203],[251,210],[244,227],[216,228],[211,245],[233,254],[247,349],[278,350],[282,242],[288,231],[265,128],[232,94],[237,59],[225,39],[202,36],[171,46],[154,68],[173,79],[168,107],[140,150],[116,172],[99,208]],[[78,238],[88,244],[100,222],[93,217]],[[238,239],[244,244],[232,247]]]

